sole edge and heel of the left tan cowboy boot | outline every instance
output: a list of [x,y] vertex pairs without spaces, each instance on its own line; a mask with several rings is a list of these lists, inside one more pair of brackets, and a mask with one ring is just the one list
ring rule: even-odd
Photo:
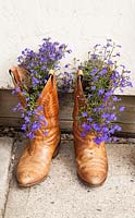
[[[59,144],[58,144],[58,146],[57,146],[57,148],[56,148],[56,150],[53,153],[52,158],[56,158],[58,156],[59,150],[60,150],[60,145],[61,145],[61,140],[60,140],[60,142],[59,142]],[[34,186],[34,185],[37,185],[37,184],[44,182],[47,177],[48,177],[48,174],[46,174],[42,179],[38,180],[37,182],[33,182],[33,183],[29,183],[29,184],[22,184],[22,183],[19,183],[19,182],[17,182],[17,184],[21,187],[30,187],[30,186]],[[16,178],[16,180],[17,180],[17,178]]]

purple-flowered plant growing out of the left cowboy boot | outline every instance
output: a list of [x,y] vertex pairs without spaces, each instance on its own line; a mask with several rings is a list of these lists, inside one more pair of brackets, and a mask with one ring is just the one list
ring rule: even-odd
[[[23,109],[21,105],[15,107],[14,111],[21,110],[24,123],[22,130],[26,132],[26,137],[34,138],[35,132],[41,126],[42,130],[47,126],[47,121],[44,114],[44,108],[37,106],[37,99],[41,94],[48,78],[49,71],[51,69],[60,69],[60,61],[65,57],[65,53],[70,53],[65,44],[59,44],[58,41],[51,41],[50,38],[42,39],[42,44],[39,46],[38,51],[30,49],[24,49],[22,55],[17,58],[19,65],[27,70],[28,76],[23,83],[23,95],[26,99],[26,108]],[[21,84],[22,85],[22,84]],[[20,87],[15,93],[20,92]],[[44,132],[47,135],[47,131]]]

